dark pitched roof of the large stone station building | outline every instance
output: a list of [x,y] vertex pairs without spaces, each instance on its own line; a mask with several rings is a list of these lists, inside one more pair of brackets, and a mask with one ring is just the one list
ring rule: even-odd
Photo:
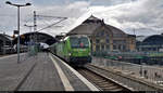
[[125,34],[121,29],[118,29],[114,26],[104,24],[103,19],[97,18],[93,15],[91,15],[86,21],[84,21],[79,26],[72,29],[67,34],[67,36],[68,35],[92,35],[96,29],[98,29],[99,27],[102,27],[102,26],[105,26],[108,29],[110,29],[113,32],[114,38],[127,36],[127,34]]

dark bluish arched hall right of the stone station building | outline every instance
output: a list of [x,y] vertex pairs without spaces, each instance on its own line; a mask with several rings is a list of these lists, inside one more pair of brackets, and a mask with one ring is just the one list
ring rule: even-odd
[[163,52],[163,35],[137,37],[137,50],[141,52]]

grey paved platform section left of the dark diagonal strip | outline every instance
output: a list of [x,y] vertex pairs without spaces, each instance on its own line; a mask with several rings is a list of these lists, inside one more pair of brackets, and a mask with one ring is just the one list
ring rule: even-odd
[[24,76],[36,63],[35,57],[21,54],[21,63],[17,64],[17,56],[9,55],[0,57],[0,91],[14,91]]

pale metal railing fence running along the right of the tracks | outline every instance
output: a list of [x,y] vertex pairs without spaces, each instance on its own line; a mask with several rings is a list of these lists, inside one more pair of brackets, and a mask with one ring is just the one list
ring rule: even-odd
[[92,57],[92,64],[110,67],[120,70],[123,74],[130,74],[135,77],[143,78],[149,80],[150,82],[163,85],[163,68],[159,66],[149,66],[145,63],[141,63],[141,65],[137,65],[120,61],[112,61],[103,57]]

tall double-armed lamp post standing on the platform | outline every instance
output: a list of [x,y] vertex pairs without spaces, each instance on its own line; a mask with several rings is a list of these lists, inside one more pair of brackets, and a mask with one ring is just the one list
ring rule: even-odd
[[5,2],[7,4],[10,4],[10,5],[14,5],[14,6],[17,6],[17,64],[20,63],[20,8],[21,6],[27,6],[27,5],[32,5],[30,3],[26,3],[26,4],[14,4],[14,3],[11,3],[10,1],[7,1]]

